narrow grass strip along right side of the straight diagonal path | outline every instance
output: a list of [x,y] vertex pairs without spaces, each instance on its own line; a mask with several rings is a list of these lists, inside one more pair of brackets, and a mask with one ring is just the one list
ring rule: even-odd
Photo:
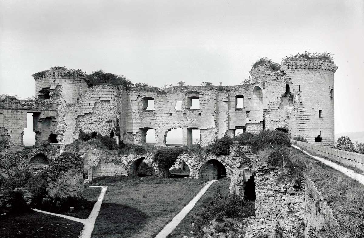
[[[195,207],[191,210],[189,214],[179,225],[168,235],[168,238],[182,238],[183,236],[191,237],[191,219],[192,215],[196,214],[202,208],[206,208],[207,203],[211,198],[215,196],[218,190],[220,190],[221,194],[229,193],[229,178],[222,178],[217,182],[214,182],[209,189],[207,189],[206,193],[200,198],[200,200],[196,203]],[[208,224],[206,224],[208,225]]]

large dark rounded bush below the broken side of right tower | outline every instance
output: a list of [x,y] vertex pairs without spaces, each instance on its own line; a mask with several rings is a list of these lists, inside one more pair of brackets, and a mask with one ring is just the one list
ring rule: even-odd
[[264,130],[257,135],[253,143],[254,151],[265,147],[273,147],[273,145],[291,146],[289,134],[282,131]]

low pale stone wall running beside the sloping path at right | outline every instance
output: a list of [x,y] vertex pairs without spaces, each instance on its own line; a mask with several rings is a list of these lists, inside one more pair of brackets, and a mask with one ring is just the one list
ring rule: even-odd
[[297,140],[292,140],[292,142],[297,144],[298,147],[304,149],[305,151],[316,153],[322,157],[328,157],[329,159],[346,165],[354,166],[364,172],[364,155],[348,151],[340,151],[339,149],[322,147]]

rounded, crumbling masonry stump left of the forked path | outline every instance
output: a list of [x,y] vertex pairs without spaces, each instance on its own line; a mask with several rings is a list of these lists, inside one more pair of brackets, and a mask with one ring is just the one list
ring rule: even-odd
[[47,172],[48,196],[55,198],[83,196],[83,159],[71,152],[64,152],[50,165]]

